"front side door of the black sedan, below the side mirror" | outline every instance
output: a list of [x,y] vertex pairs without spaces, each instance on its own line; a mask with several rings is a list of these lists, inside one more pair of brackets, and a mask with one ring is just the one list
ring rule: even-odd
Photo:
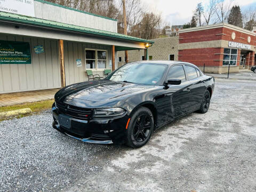
[[183,65],[175,65],[169,69],[167,79],[181,79],[180,85],[168,85],[165,90],[165,95],[168,98],[167,118],[172,119],[186,114],[190,108],[190,82],[187,81]]

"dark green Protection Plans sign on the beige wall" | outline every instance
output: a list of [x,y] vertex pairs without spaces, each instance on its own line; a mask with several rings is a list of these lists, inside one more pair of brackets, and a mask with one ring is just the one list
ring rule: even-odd
[[0,64],[31,64],[29,43],[0,41]]

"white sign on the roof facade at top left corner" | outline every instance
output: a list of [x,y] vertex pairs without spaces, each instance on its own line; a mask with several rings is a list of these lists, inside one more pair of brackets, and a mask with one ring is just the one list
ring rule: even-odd
[[0,0],[0,11],[35,17],[34,0]]

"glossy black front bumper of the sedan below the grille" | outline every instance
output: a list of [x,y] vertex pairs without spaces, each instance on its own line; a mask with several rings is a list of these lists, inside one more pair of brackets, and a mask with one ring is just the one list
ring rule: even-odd
[[[52,107],[54,129],[67,136],[89,143],[110,144],[125,142],[127,115],[115,119],[76,119],[71,118],[71,128],[60,126],[59,111]],[[68,115],[68,114],[66,114]]]

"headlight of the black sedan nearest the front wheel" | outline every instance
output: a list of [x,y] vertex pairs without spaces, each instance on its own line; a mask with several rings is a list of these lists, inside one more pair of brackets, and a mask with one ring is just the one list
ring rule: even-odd
[[119,107],[94,109],[93,117],[116,117],[125,114],[125,110]]

